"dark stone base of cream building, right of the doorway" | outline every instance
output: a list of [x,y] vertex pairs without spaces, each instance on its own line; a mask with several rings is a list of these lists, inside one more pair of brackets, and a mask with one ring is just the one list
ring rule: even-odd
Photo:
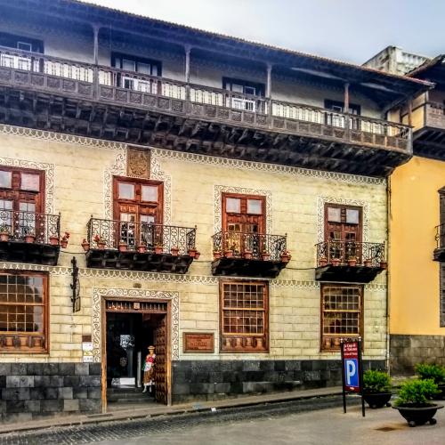
[[[384,360],[363,368],[384,369]],[[219,400],[227,396],[313,389],[342,384],[340,360],[176,360],[172,401]]]

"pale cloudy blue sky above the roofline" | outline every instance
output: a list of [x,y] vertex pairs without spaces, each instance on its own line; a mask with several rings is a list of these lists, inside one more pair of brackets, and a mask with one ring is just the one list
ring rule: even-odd
[[361,64],[388,45],[445,53],[445,0],[93,0],[147,17]]

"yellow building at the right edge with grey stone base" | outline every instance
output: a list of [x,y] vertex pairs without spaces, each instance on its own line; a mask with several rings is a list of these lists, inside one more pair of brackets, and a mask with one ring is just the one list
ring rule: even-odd
[[[401,110],[414,127],[414,157],[391,176],[390,333],[392,373],[420,361],[445,364],[445,67],[444,56],[409,76],[433,90]],[[409,117],[411,114],[411,117]]]

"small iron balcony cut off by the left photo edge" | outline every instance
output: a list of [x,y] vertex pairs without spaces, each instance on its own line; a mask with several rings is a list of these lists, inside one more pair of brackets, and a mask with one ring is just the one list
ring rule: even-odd
[[0,210],[0,261],[57,265],[61,215]]

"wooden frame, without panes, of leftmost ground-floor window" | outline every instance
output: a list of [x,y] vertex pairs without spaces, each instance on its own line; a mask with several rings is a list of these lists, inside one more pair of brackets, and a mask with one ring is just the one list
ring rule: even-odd
[[[18,346],[13,347],[12,349],[8,349],[5,347],[5,345],[2,343],[0,344],[0,353],[2,354],[26,354],[26,353],[32,353],[32,354],[47,354],[49,353],[49,345],[50,345],[50,295],[49,295],[49,289],[50,289],[50,276],[49,272],[35,272],[35,271],[0,271],[0,275],[14,275],[14,276],[24,276],[24,277],[40,277],[43,279],[43,289],[44,289],[44,303],[41,304],[43,309],[43,332],[42,333],[27,333],[27,332],[21,332],[21,331],[9,331],[4,332],[0,331],[0,338],[4,337],[4,341],[6,341],[6,337],[12,337],[12,338],[20,338],[23,336],[30,337],[43,337],[43,344],[42,347],[38,348],[36,346]],[[0,303],[0,305],[3,305],[3,303]],[[26,305],[26,303],[24,304]],[[38,304],[40,305],[40,304]],[[16,340],[13,340],[14,342]]]

